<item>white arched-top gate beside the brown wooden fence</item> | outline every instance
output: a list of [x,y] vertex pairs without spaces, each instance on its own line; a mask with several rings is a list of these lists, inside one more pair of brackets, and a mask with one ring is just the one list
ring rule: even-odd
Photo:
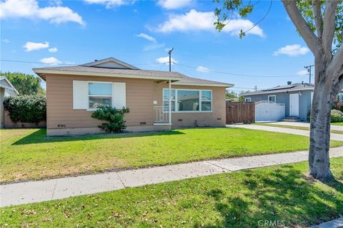
[[284,104],[261,100],[255,103],[255,122],[279,121],[284,118]]

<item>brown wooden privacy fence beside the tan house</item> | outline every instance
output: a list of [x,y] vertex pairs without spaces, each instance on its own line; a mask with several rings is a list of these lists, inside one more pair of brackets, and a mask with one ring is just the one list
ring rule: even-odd
[[252,102],[227,102],[227,124],[254,123],[255,104]]

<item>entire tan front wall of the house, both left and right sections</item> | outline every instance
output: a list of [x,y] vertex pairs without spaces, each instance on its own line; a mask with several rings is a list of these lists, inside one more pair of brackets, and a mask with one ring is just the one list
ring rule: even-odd
[[[46,128],[48,135],[98,133],[101,121],[91,118],[91,111],[73,109],[73,80],[126,83],[125,115],[127,130],[168,130],[170,126],[154,126],[154,106],[162,105],[162,89],[166,83],[150,79],[111,78],[99,76],[46,76]],[[172,113],[172,127],[224,126],[225,88],[209,86],[173,86],[172,88],[212,90],[211,113]],[[157,103],[153,104],[156,100]],[[145,123],[145,124],[143,124]]]

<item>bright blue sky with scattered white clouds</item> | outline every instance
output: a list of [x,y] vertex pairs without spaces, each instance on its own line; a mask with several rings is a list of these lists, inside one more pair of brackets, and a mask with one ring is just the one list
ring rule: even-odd
[[110,56],[139,68],[167,71],[164,57],[174,47],[173,71],[234,83],[237,91],[307,82],[308,76],[297,74],[313,63],[313,56],[281,2],[273,1],[267,18],[251,33],[237,36],[241,28],[259,21],[269,4],[259,1],[247,19],[234,15],[219,33],[212,26],[217,6],[212,1],[1,1],[1,71],[33,73],[31,68]]

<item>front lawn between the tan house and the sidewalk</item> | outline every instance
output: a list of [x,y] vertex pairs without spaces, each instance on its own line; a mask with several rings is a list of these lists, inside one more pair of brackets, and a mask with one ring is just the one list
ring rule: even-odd
[[[309,147],[309,138],[304,136],[229,128],[54,138],[46,138],[43,129],[1,130],[0,133],[1,182]],[[339,145],[343,142],[332,142],[332,146]]]

